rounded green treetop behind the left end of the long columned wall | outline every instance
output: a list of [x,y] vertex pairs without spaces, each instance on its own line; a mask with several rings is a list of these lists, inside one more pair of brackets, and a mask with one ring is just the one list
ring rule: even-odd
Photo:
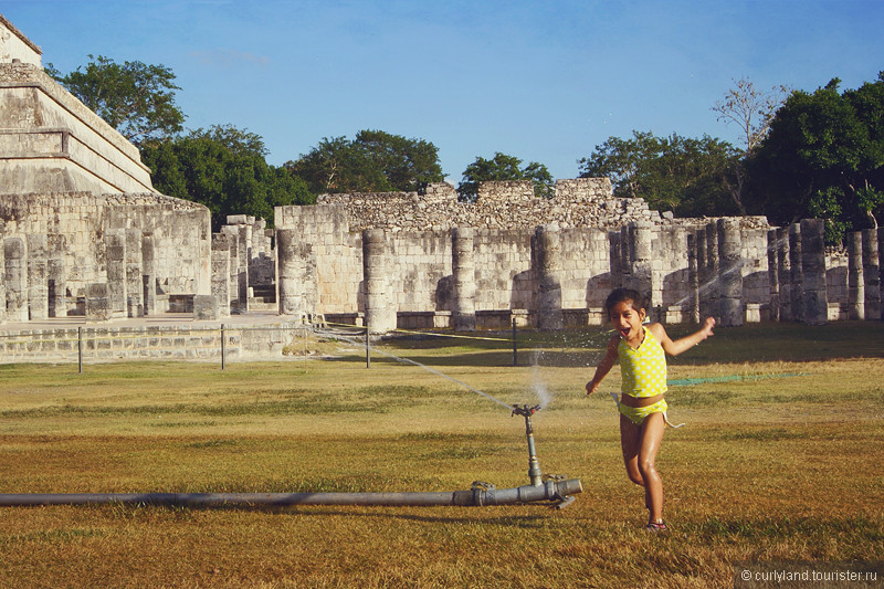
[[285,168],[317,194],[422,191],[444,179],[432,143],[382,130],[360,130],[354,140],[325,137]]

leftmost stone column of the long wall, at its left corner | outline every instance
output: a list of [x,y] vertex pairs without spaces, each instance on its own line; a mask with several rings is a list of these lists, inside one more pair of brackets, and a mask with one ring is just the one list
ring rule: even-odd
[[307,260],[313,246],[305,243],[296,229],[276,230],[276,301],[280,315],[301,319],[307,309]]

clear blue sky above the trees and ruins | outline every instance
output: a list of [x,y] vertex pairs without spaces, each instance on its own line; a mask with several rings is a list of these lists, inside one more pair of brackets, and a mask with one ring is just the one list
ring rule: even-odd
[[812,91],[884,70],[884,0],[3,0],[69,72],[105,55],[171,67],[187,127],[232,124],[269,161],[364,128],[438,148],[451,181],[503,151],[579,176],[633,129],[738,144],[711,107],[746,76]]

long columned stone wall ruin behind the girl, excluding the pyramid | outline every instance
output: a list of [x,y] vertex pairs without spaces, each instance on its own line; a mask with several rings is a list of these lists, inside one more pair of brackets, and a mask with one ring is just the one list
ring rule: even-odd
[[[474,203],[449,185],[427,194],[332,194],[275,211],[280,312],[399,328],[560,329],[600,325],[608,293],[636,287],[652,316],[720,325],[878,318],[877,241],[863,242],[851,295],[844,256],[823,225],[769,227],[762,217],[676,219],[642,199],[615,199],[607,178],[486,182]],[[874,249],[873,249],[874,245]]]

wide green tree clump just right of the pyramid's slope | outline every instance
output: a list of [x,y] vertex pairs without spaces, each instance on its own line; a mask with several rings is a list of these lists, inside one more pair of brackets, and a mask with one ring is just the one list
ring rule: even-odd
[[261,217],[272,224],[274,207],[315,202],[301,178],[267,165],[265,154],[259,135],[231,125],[141,146],[154,187],[208,207],[215,229],[229,214]]

